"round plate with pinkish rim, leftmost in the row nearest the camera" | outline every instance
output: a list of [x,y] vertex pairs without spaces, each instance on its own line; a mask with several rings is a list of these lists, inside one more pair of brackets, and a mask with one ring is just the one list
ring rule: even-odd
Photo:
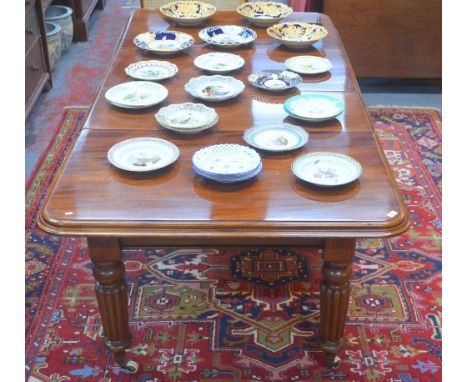
[[115,167],[132,172],[158,170],[174,163],[179,157],[176,145],[164,139],[141,137],[112,146],[107,159]]

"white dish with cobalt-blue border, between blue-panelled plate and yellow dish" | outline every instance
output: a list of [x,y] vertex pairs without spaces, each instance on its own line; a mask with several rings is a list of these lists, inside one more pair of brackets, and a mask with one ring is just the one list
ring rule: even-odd
[[198,36],[208,44],[220,48],[237,48],[257,38],[257,33],[239,25],[219,25],[202,29]]

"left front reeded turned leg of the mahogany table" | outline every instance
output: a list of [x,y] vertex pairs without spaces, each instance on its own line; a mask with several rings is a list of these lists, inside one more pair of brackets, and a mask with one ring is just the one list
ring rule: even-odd
[[118,239],[88,238],[89,254],[96,279],[96,298],[104,330],[104,342],[117,363],[128,367],[125,349],[132,336],[128,325],[127,284]]

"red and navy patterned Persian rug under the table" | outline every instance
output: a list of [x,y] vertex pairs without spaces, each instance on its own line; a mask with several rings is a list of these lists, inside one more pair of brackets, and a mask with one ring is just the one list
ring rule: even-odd
[[[103,347],[86,241],[39,230],[36,216],[85,111],[68,109],[27,182],[26,380],[98,382],[441,380],[441,116],[370,109],[412,226],[360,240],[346,344],[333,370],[318,348],[315,249],[125,251],[129,374]],[[272,259],[284,267],[264,272]],[[251,272],[248,264],[257,263]],[[247,264],[247,265],[246,265]],[[288,269],[282,272],[281,269]]]

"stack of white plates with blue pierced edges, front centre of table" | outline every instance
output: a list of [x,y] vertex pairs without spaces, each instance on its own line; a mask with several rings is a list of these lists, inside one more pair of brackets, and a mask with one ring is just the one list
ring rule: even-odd
[[261,159],[250,147],[219,144],[198,150],[193,154],[192,164],[200,172],[208,175],[240,178],[255,172],[261,164]]

